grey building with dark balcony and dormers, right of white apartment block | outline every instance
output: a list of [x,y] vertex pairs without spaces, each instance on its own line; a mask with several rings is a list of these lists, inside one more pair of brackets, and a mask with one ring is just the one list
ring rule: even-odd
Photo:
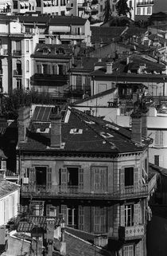
[[68,69],[72,67],[72,47],[68,45],[38,44],[33,60],[34,74],[31,89],[49,93],[57,100],[67,100],[69,87]]

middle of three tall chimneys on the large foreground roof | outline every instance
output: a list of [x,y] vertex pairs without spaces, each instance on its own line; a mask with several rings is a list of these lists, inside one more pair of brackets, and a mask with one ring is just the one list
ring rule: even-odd
[[51,148],[61,148],[61,116],[60,113],[52,112],[51,120]]

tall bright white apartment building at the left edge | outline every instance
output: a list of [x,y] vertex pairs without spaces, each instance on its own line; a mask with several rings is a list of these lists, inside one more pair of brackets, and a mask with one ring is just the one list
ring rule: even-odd
[[33,73],[30,55],[38,42],[37,28],[26,31],[15,16],[2,16],[1,84],[4,93],[14,88],[30,89]]

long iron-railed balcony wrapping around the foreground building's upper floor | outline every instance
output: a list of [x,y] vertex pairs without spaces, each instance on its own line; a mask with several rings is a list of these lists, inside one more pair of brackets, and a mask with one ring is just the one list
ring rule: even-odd
[[29,197],[33,195],[35,197],[45,198],[73,198],[73,199],[134,199],[138,197],[147,197],[148,186],[142,186],[138,188],[119,189],[114,192],[107,191],[89,191],[88,189],[81,188],[80,186],[56,186],[48,189],[46,186],[28,185],[24,184],[21,187],[21,195]]

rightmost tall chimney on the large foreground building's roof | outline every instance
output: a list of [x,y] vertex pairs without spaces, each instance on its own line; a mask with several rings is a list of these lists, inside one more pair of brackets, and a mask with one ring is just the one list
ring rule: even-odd
[[131,114],[131,139],[142,143],[142,113],[137,110]]

